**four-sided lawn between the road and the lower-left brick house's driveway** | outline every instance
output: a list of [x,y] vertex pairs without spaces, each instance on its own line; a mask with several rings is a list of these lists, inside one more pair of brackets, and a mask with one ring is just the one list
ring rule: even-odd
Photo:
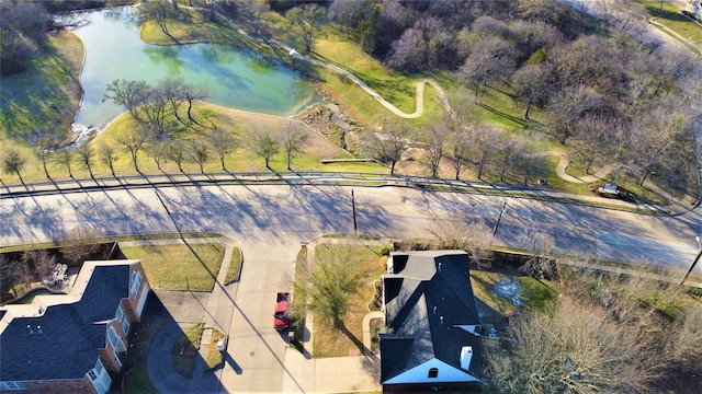
[[122,247],[127,258],[141,260],[157,290],[212,291],[224,252],[219,243]]

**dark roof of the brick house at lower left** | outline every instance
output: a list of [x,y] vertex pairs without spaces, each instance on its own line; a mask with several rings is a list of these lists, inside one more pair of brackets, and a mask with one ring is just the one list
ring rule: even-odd
[[105,347],[105,321],[115,317],[128,286],[129,265],[97,266],[80,301],[13,318],[0,335],[2,381],[83,378]]

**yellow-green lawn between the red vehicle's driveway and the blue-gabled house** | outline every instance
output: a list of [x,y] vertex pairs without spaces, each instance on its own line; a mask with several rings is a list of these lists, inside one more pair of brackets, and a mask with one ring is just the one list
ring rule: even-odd
[[[337,247],[344,245],[320,244],[315,248],[315,254],[335,253]],[[335,328],[331,324],[321,324],[321,320],[315,317],[313,335],[313,357],[347,357],[363,355],[359,344],[363,340],[363,317],[369,313],[369,302],[375,293],[374,282],[380,280],[385,273],[386,256],[378,256],[374,250],[363,245],[351,246],[358,255],[359,269],[367,270],[367,280],[360,291],[349,296],[350,312],[343,317],[346,332]],[[362,347],[362,346],[361,346]]]

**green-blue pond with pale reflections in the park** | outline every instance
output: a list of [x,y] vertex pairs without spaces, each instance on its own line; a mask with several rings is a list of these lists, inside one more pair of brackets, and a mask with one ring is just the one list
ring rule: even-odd
[[155,84],[165,78],[182,78],[190,84],[206,85],[208,102],[281,116],[320,100],[298,72],[246,49],[219,44],[145,44],[131,7],[82,16],[90,23],[73,31],[86,48],[80,76],[84,96],[76,124],[102,129],[126,111],[112,101],[102,102],[106,85],[115,79]]

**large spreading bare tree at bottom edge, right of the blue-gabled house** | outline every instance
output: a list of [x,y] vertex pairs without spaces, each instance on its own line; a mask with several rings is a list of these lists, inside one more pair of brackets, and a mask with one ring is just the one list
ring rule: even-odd
[[506,351],[487,352],[486,372],[499,393],[641,393],[664,360],[635,326],[602,308],[561,297],[551,313],[510,318]]

